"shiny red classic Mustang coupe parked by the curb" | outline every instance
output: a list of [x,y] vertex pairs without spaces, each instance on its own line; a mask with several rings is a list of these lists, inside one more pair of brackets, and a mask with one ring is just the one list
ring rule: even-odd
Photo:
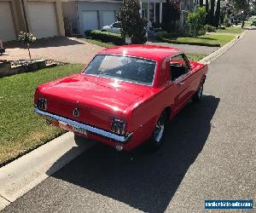
[[207,70],[179,49],[103,49],[80,73],[38,86],[34,106],[50,124],[118,150],[144,141],[157,148],[166,123],[200,101]]

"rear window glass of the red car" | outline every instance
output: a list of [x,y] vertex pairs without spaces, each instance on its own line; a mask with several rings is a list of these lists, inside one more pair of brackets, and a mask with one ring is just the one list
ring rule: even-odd
[[156,62],[123,55],[96,55],[84,73],[152,85]]

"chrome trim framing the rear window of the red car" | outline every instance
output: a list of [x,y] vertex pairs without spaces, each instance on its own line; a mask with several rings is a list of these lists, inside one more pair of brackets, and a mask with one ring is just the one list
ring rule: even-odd
[[[119,79],[119,78],[110,78],[110,77],[106,77],[106,76],[97,76],[97,75],[94,75],[94,74],[87,74],[86,72],[84,72],[86,70],[86,68],[88,66],[90,66],[90,63],[92,60],[95,59],[95,57],[97,55],[115,55],[115,56],[125,56],[125,57],[131,57],[131,58],[136,58],[136,59],[143,59],[143,60],[150,60],[150,61],[154,61],[155,62],[155,66],[154,66],[154,76],[153,76],[153,80],[152,80],[152,83],[151,84],[145,84],[145,83],[136,83],[136,82],[132,82],[132,81],[126,81],[126,80],[122,80],[122,79]],[[84,67],[83,69],[83,72],[82,74],[85,74],[85,75],[89,75],[89,76],[94,76],[94,77],[97,77],[97,78],[108,78],[108,79],[117,79],[119,81],[122,81],[122,82],[127,82],[127,83],[135,83],[135,84],[139,84],[139,85],[143,85],[143,86],[148,86],[148,87],[153,87],[154,86],[154,78],[155,78],[155,72],[157,70],[157,67],[158,67],[158,62],[156,60],[151,60],[151,59],[147,59],[147,58],[143,58],[143,57],[138,57],[138,56],[132,56],[132,55],[118,55],[118,54],[97,54],[93,57],[92,60],[90,60],[90,63]]]

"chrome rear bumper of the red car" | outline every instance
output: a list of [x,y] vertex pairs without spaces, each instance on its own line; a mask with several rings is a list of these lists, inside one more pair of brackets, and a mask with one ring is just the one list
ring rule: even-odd
[[131,135],[133,134],[132,132],[127,134],[127,135],[116,135],[116,134],[113,134],[112,132],[109,132],[109,131],[106,131],[106,130],[101,130],[101,129],[98,129],[96,127],[93,127],[93,126],[90,126],[88,124],[82,124],[82,123],[79,123],[77,121],[73,121],[71,119],[68,119],[68,118],[63,118],[61,116],[58,116],[58,115],[55,115],[55,114],[51,114],[49,112],[44,112],[42,110],[39,110],[38,107],[34,107],[35,108],[35,112],[37,112],[39,115],[42,115],[46,118],[49,118],[49,119],[54,119],[55,121],[58,121],[58,122],[64,122],[68,125],[71,125],[73,127],[76,127],[76,128],[79,128],[81,130],[85,130],[85,131],[88,131],[90,133],[94,133],[96,135],[101,135],[103,137],[106,137],[110,140],[113,140],[113,141],[117,141],[117,142],[120,142],[120,143],[125,143],[125,142],[128,142],[130,139],[131,139]]

